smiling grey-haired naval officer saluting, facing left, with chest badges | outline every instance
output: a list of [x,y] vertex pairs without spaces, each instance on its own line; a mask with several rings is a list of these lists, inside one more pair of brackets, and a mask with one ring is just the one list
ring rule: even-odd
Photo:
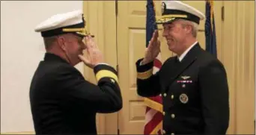
[[226,134],[229,123],[228,81],[223,64],[196,40],[204,14],[181,1],[163,1],[162,36],[169,57],[153,75],[160,43],[155,31],[144,58],[136,62],[137,92],[162,95],[163,134]]

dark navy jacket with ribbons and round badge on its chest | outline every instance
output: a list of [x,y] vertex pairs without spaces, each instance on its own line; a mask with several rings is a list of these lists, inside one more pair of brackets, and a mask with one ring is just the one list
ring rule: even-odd
[[181,60],[170,57],[152,75],[153,62],[136,63],[138,95],[162,95],[164,134],[226,134],[228,81],[222,63],[196,44]]

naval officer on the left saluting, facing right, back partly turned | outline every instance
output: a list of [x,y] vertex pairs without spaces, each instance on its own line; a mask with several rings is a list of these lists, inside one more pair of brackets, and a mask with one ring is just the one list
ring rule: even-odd
[[[37,25],[46,54],[30,87],[31,113],[36,134],[97,134],[96,113],[122,108],[117,72],[85,31],[82,10],[57,14]],[[85,38],[85,39],[84,39]],[[83,57],[83,50],[88,57]],[[73,66],[94,70],[97,84],[86,81]]]

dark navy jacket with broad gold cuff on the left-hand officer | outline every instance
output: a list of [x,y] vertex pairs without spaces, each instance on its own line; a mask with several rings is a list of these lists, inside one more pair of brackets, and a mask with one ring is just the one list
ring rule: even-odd
[[96,113],[122,108],[117,72],[94,68],[97,85],[55,54],[46,53],[31,81],[31,113],[36,134],[97,134]]

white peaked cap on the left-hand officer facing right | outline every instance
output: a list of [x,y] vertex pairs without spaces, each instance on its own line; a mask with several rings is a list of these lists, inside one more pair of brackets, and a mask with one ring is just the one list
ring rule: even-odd
[[51,16],[37,25],[34,31],[40,32],[42,37],[52,37],[67,33],[73,33],[80,37],[87,36],[82,10]]

